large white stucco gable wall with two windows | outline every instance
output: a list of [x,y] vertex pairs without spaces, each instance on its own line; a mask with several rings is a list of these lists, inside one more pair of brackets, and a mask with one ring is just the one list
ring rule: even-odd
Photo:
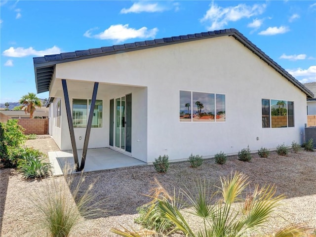
[[[204,157],[220,151],[236,154],[247,145],[258,150],[303,142],[306,94],[231,37],[57,64],[56,78],[147,87],[147,102],[138,100],[147,105],[147,128],[137,119],[132,126],[147,131],[147,147],[143,143],[141,147],[147,149],[149,163],[163,154],[176,160],[191,153]],[[225,94],[226,121],[179,122],[179,90]],[[139,98],[145,99],[146,93]],[[295,127],[262,128],[263,98],[294,101]],[[90,143],[97,142],[91,139]],[[132,139],[134,149],[136,137]],[[137,154],[133,157],[138,158]]]

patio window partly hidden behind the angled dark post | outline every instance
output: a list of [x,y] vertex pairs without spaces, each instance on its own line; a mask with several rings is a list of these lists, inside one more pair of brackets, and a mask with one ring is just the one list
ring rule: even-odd
[[[91,100],[73,99],[74,128],[87,126],[90,105],[91,105]],[[102,127],[102,100],[95,101],[91,127]]]

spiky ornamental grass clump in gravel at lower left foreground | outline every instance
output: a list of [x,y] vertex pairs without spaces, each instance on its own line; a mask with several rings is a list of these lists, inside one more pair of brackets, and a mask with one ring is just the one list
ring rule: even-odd
[[98,207],[101,204],[95,201],[97,194],[91,191],[93,185],[82,190],[83,173],[77,176],[79,180],[75,176],[71,169],[64,169],[65,180],[62,177],[52,178],[43,193],[33,198],[40,212],[39,221],[51,237],[68,237],[82,218],[100,216],[107,212]]

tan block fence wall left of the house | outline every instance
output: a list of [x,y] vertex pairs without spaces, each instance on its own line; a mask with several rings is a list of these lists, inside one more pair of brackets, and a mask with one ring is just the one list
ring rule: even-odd
[[18,124],[25,128],[25,134],[48,134],[48,118],[19,118]]

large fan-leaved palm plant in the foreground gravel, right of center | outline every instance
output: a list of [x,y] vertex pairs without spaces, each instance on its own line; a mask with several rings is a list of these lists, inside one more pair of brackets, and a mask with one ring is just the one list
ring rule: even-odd
[[[248,231],[253,231],[267,223],[278,201],[284,198],[283,195],[275,196],[276,188],[273,185],[265,185],[262,188],[256,185],[253,192],[244,198],[245,190],[249,190],[247,180],[246,175],[236,172],[221,178],[221,187],[215,193],[210,192],[210,184],[205,180],[197,181],[194,193],[189,189],[180,190],[180,193],[186,197],[183,199],[188,200],[187,204],[192,207],[190,213],[201,218],[202,227],[199,231],[193,231],[180,211],[178,199],[170,196],[157,179],[155,179],[156,189],[151,203],[156,203],[160,215],[174,224],[173,231],[180,231],[184,236],[241,237]],[[220,198],[213,200],[214,196]],[[240,202],[242,205],[238,204]],[[115,233],[133,237],[130,231],[129,235],[122,235],[118,231]]]

